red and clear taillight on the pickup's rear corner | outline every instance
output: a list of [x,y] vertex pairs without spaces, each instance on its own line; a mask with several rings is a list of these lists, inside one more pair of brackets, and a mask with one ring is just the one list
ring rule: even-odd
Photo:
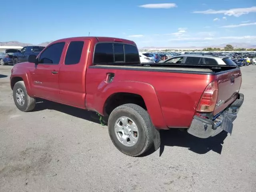
[[216,80],[210,82],[197,107],[197,112],[213,112],[218,98],[218,83]]

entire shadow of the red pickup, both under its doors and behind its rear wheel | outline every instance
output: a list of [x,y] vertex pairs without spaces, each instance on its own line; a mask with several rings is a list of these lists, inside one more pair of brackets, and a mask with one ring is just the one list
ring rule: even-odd
[[[34,111],[41,111],[46,109],[56,110],[68,115],[72,115],[77,118],[81,118],[84,120],[100,124],[99,116],[97,116],[95,112],[74,108],[64,104],[58,104],[56,102],[38,99]],[[165,146],[185,147],[188,148],[188,150],[195,152],[197,154],[206,154],[211,150],[218,154],[221,154],[222,144],[224,143],[224,140],[227,136],[227,132],[223,131],[214,137],[201,139],[188,134],[185,130],[161,130],[161,145],[159,150],[159,156],[163,154]],[[142,156],[148,156],[154,152],[156,151],[153,147]]]

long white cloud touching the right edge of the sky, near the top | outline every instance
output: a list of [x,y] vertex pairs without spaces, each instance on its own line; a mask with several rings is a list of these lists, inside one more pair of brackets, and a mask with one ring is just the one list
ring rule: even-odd
[[235,16],[239,17],[243,14],[248,14],[251,12],[256,12],[256,7],[248,7],[248,8],[235,8],[235,9],[229,9],[229,10],[213,10],[208,9],[205,11],[194,11],[192,13],[202,13],[202,14],[224,14],[228,16]]

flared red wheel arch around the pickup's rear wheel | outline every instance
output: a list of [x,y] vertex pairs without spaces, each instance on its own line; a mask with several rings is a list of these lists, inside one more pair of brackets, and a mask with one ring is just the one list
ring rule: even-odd
[[[114,106],[112,106],[111,103],[118,104],[118,102],[115,102],[118,96],[122,96],[123,98],[125,98],[122,100],[121,97],[120,100],[123,101],[121,102],[121,105],[131,100],[130,103],[138,104],[139,106],[147,110],[152,120],[152,123],[156,128],[168,129],[163,117],[162,108],[160,106],[157,93],[151,84],[136,81],[120,81],[109,84],[101,92],[101,98],[103,98],[103,103],[99,104],[100,106],[102,106],[102,108],[97,111],[104,116],[108,116],[109,113],[114,109]],[[110,109],[108,108],[109,106]]]

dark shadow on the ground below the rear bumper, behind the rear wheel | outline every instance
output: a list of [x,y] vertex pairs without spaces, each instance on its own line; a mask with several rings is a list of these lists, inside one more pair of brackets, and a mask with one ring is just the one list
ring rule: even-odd
[[[159,156],[163,154],[165,146],[185,147],[197,154],[206,154],[211,150],[221,154],[222,144],[224,144],[224,140],[227,136],[228,133],[223,131],[214,137],[201,139],[188,134],[186,131],[180,131],[178,129],[162,130],[160,131],[161,145]],[[155,150],[152,148],[144,156],[154,152]]]

